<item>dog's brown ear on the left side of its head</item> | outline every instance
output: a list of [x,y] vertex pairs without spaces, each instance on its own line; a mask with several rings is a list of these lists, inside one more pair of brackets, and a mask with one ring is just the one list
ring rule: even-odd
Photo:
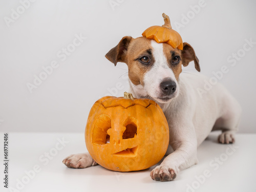
[[113,62],[116,66],[117,62],[125,62],[125,53],[128,49],[128,46],[132,40],[132,37],[125,36],[123,37],[119,44],[112,48],[105,57],[109,59],[111,62]]

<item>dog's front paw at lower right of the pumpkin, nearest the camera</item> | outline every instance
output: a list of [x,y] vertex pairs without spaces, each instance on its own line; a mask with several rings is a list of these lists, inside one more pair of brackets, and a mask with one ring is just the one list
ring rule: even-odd
[[155,181],[172,181],[176,178],[176,173],[173,168],[159,165],[152,170],[150,176]]

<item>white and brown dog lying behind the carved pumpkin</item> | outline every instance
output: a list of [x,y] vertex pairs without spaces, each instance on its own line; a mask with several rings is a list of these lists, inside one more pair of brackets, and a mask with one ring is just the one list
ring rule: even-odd
[[[136,98],[155,100],[169,125],[168,154],[150,176],[156,181],[174,180],[180,170],[198,163],[197,147],[211,131],[221,130],[220,143],[233,143],[238,131],[241,107],[219,83],[204,94],[205,81],[200,73],[181,73],[194,61],[200,72],[199,59],[193,47],[183,42],[183,50],[145,37],[123,37],[105,57],[128,66],[131,92]],[[97,163],[88,154],[71,155],[62,161],[72,168]]]

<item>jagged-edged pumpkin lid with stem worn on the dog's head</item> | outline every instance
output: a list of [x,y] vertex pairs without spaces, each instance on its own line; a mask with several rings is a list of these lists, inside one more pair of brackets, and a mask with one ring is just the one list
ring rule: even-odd
[[172,46],[174,49],[182,50],[183,42],[180,34],[172,29],[169,16],[164,13],[162,16],[164,18],[164,25],[149,27],[142,33],[142,36],[147,39],[154,39],[158,43],[166,42],[166,44]]

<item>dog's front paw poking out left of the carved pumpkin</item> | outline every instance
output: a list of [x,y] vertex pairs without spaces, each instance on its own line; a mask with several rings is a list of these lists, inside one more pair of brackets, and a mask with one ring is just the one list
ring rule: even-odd
[[97,164],[87,153],[70,155],[65,158],[62,163],[69,168],[86,168]]

